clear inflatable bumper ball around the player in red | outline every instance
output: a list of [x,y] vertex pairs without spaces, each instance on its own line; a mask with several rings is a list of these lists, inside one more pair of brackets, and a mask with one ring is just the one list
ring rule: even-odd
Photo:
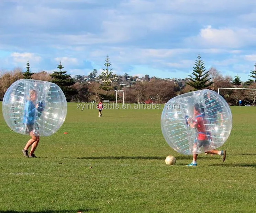
[[[199,113],[195,111],[196,104],[200,106]],[[201,126],[190,125],[200,119]],[[176,152],[184,155],[200,154],[226,142],[232,130],[232,114],[229,105],[218,93],[212,90],[188,92],[165,104],[161,129],[166,142]],[[207,135],[203,143],[197,139],[199,134]]]

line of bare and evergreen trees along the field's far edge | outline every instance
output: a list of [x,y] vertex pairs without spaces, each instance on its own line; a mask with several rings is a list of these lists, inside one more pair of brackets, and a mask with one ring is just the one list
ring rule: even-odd
[[[121,89],[120,83],[115,81],[116,75],[111,68],[110,59],[107,56],[104,63],[104,68],[101,74],[98,75],[96,69],[88,75],[90,79],[99,79],[99,81],[83,81],[81,76],[72,78],[71,75],[64,71],[64,66],[60,61],[57,66],[58,71],[48,74],[45,71],[32,73],[30,64],[27,61],[26,71],[22,72],[21,68],[15,68],[13,71],[4,71],[0,73],[0,97],[4,96],[8,87],[19,79],[37,79],[56,83],[64,92],[68,102],[91,102],[102,100],[115,101],[115,90]],[[126,103],[166,103],[169,99],[186,92],[211,89],[218,92],[219,87],[226,88],[256,88],[256,65],[255,70],[251,70],[251,77],[246,82],[242,82],[240,77],[236,75],[234,79],[231,76],[223,76],[215,67],[206,70],[201,56],[198,55],[193,66],[193,72],[188,75],[186,82],[175,82],[166,79],[149,78],[145,75],[144,82],[131,84],[128,87],[122,88],[125,92]],[[126,73],[123,76],[127,80],[129,75]],[[136,79],[129,77],[129,79]],[[150,80],[149,80],[150,79]],[[221,95],[229,104],[237,105],[239,99],[244,100],[253,105],[256,104],[256,90],[223,90]],[[117,97],[121,102],[122,98]]]

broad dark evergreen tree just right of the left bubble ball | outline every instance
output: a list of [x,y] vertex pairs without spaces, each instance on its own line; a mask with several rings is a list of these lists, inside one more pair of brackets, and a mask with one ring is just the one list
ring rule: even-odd
[[60,89],[62,89],[67,99],[67,102],[69,102],[72,97],[78,93],[75,88],[71,87],[76,83],[76,81],[75,79],[71,78],[71,75],[66,74],[67,71],[62,71],[62,69],[64,69],[64,66],[62,65],[61,61],[57,68],[60,71],[55,71],[53,72],[53,74],[50,75],[52,77],[51,82],[56,83],[56,85],[58,85]]

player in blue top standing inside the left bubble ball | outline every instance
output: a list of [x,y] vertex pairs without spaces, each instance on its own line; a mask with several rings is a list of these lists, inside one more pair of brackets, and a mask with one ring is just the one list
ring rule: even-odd
[[[22,149],[22,153],[25,157],[36,158],[36,156],[34,155],[34,152],[40,140],[39,136],[36,134],[38,130],[38,125],[35,122],[36,111],[38,108],[38,104],[36,104],[36,99],[37,99],[36,90],[30,90],[29,97],[30,98],[25,105],[23,124],[25,125],[26,133],[31,136],[31,139],[27,142],[24,149]],[[28,155],[27,150],[29,149],[30,146],[31,146],[31,150],[30,150],[30,154]]]

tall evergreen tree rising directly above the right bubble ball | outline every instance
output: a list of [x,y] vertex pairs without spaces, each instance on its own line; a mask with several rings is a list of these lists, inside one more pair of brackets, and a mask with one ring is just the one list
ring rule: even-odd
[[208,74],[209,71],[206,71],[203,61],[201,60],[201,56],[198,55],[198,60],[195,61],[195,67],[193,67],[192,77],[191,75],[188,75],[190,78],[190,82],[187,82],[187,84],[194,89],[200,90],[204,89],[206,87],[209,87],[213,82],[210,81],[210,74]]

